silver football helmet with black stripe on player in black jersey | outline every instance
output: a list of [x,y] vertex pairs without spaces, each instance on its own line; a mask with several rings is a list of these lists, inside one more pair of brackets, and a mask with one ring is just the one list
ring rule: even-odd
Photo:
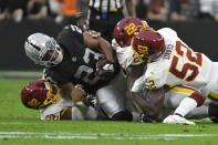
[[31,34],[24,44],[27,55],[35,63],[54,66],[63,60],[63,52],[58,42],[43,33]]

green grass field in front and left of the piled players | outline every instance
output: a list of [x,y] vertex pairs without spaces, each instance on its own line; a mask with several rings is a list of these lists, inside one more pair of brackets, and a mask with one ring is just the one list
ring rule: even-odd
[[0,79],[0,145],[218,145],[218,124],[166,125],[100,121],[40,121],[20,90],[31,80]]

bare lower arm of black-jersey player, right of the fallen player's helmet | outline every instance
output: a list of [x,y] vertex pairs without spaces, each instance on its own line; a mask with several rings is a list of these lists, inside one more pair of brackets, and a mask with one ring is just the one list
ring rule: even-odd
[[75,85],[72,93],[71,99],[74,103],[84,101],[85,100],[86,92],[82,89],[81,85]]

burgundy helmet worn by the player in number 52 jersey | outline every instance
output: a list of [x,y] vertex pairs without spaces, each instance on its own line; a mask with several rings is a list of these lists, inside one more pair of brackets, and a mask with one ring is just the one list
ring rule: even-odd
[[164,38],[154,30],[144,29],[133,38],[132,50],[141,61],[155,61],[165,51]]

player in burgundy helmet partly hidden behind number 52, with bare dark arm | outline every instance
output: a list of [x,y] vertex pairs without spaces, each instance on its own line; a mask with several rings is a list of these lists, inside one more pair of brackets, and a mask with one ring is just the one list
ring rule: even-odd
[[163,101],[162,100],[163,97],[159,99],[150,97],[150,100],[154,99],[155,101],[152,101],[153,103],[147,103],[146,101],[144,101],[142,96],[145,94],[146,97],[152,95],[162,96],[163,94],[162,93],[159,93],[159,95],[150,94],[149,92],[144,91],[142,95],[131,92],[133,83],[135,82],[136,79],[143,75],[144,69],[146,69],[146,61],[139,60],[131,49],[131,41],[133,37],[138,34],[138,32],[142,31],[143,29],[152,29],[152,28],[149,28],[146,21],[142,21],[138,18],[132,18],[132,17],[124,18],[114,28],[114,33],[113,33],[114,40],[112,44],[113,48],[115,48],[116,50],[118,62],[126,75],[127,91],[128,91],[127,93],[128,107],[133,106],[132,107],[133,111],[146,112],[146,114],[149,117],[156,118],[162,107],[162,105],[159,105],[159,107],[156,107],[157,106],[156,104],[162,104],[158,102]]

